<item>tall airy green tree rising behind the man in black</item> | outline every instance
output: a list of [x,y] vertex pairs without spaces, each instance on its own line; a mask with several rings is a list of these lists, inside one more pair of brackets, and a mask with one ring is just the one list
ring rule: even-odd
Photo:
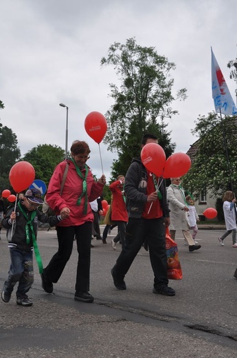
[[117,151],[118,159],[113,162],[112,176],[125,174],[131,160],[140,152],[140,141],[145,133],[153,133],[159,144],[170,156],[175,144],[171,143],[170,132],[166,130],[166,119],[177,111],[170,107],[174,99],[184,100],[186,89],[180,89],[176,98],[172,96],[175,69],[155,48],[137,45],[134,38],[126,44],[114,43],[101,65],[113,65],[121,81],[120,89],[110,84],[114,105],[106,112],[108,130],[104,142],[111,151]]

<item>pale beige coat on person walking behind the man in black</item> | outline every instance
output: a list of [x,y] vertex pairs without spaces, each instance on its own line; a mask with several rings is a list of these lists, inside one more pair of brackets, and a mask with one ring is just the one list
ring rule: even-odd
[[167,200],[170,209],[170,230],[188,230],[188,213],[182,209],[185,205],[185,193],[177,185],[167,189]]

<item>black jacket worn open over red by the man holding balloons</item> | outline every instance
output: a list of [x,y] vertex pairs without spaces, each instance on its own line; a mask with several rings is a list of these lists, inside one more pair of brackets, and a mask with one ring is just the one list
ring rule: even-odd
[[[126,210],[128,211],[128,218],[142,218],[144,204],[147,200],[148,175],[146,168],[140,159],[133,159],[125,177],[124,191],[126,193]],[[161,178],[159,179],[159,182]],[[170,210],[168,209],[167,194],[166,194],[166,180],[163,179],[161,186],[162,199],[160,200],[161,209],[163,211],[163,218],[170,217]],[[155,189],[154,189],[155,191]]]

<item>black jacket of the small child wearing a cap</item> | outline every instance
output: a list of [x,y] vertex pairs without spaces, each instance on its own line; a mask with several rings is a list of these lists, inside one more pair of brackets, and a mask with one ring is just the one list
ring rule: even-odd
[[[27,217],[31,218],[32,211],[28,211],[23,205],[23,210],[25,211]],[[5,215],[5,218],[2,220],[2,226],[7,229],[7,239],[9,247],[17,247],[17,249],[22,251],[30,251],[32,250],[33,242],[32,242],[32,232],[30,233],[30,242],[26,242],[26,232],[25,225],[27,224],[27,220],[18,205],[16,206],[16,222],[14,222],[13,230],[12,224],[10,224],[10,215],[14,211],[14,207],[10,207],[8,212]],[[38,209],[36,210],[36,216],[32,222],[34,235],[37,235],[38,221],[47,222],[51,227],[58,224],[60,222],[60,215],[52,215],[47,217],[47,215],[43,214]]]

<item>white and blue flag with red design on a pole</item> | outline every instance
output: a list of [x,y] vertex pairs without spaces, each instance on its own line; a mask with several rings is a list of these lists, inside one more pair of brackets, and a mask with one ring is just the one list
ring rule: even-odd
[[[212,51],[212,48],[211,48]],[[216,57],[212,51],[212,98],[214,99],[214,106],[217,113],[227,114],[232,116],[237,114],[237,108],[234,104],[232,95],[229,93],[229,88],[225,82],[221,68],[219,67]]]

